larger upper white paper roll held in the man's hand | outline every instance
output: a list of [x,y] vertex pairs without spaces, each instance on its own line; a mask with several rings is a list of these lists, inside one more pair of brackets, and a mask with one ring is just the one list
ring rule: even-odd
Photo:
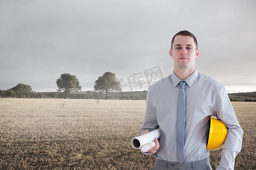
[[146,145],[147,143],[154,141],[155,138],[159,138],[159,137],[160,137],[160,129],[156,129],[146,134],[143,134],[139,137],[135,137],[131,139],[131,145],[133,146],[133,148],[139,149],[143,145]]

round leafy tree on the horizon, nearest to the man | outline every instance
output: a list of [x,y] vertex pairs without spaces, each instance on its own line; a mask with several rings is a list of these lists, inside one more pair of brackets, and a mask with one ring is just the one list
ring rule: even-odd
[[122,91],[121,83],[115,77],[114,73],[106,72],[102,76],[99,76],[95,81],[94,91],[106,92],[106,97],[109,92]]

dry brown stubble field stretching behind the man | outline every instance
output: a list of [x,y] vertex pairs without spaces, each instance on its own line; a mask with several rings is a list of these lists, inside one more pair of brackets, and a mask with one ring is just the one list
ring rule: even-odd
[[[244,131],[235,169],[256,169],[256,103],[234,102]],[[0,169],[151,169],[131,147],[146,101],[0,99]],[[221,150],[210,152],[213,169]]]

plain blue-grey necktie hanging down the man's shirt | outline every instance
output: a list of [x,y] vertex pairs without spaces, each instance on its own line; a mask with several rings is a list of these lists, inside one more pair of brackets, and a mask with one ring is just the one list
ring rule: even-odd
[[185,141],[185,83],[180,82],[180,93],[178,101],[178,116],[177,116],[177,160],[180,163],[185,161],[184,157],[184,141]]

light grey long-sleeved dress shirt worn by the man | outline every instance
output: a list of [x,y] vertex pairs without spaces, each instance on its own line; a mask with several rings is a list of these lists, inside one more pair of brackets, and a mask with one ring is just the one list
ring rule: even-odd
[[[148,87],[143,131],[161,130],[156,159],[177,161],[177,103],[181,80],[175,73]],[[221,162],[217,169],[234,169],[241,151],[243,131],[238,123],[224,86],[197,70],[185,79],[185,162],[209,157],[207,130],[210,116],[216,116],[228,128]],[[144,153],[147,154],[147,153]]]

